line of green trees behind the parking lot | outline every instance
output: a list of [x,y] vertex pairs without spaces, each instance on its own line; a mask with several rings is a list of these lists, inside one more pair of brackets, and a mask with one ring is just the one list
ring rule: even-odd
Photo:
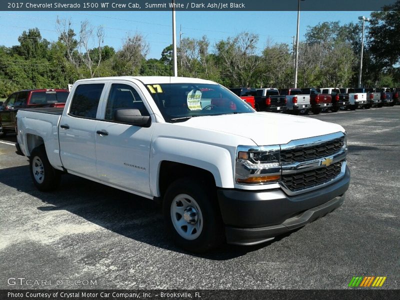
[[[366,23],[365,86],[400,85],[399,3],[394,6],[397,10],[387,7],[373,12]],[[18,89],[66,88],[79,78],[172,74],[171,45],[159,59],[146,59],[149,44],[140,33],[126,36],[121,48],[114,49],[103,44],[103,28],[84,21],[79,32],[74,32],[70,24],[70,20],[57,19],[56,41],[46,40],[39,29],[31,28],[21,33],[18,45],[0,46],[0,98]],[[258,39],[252,32],[215,44],[206,35],[185,37],[177,49],[178,75],[211,79],[229,87],[293,86],[292,45],[268,40],[259,49]],[[322,22],[308,27],[299,44],[298,86],[355,86],[360,48],[360,23]]]

